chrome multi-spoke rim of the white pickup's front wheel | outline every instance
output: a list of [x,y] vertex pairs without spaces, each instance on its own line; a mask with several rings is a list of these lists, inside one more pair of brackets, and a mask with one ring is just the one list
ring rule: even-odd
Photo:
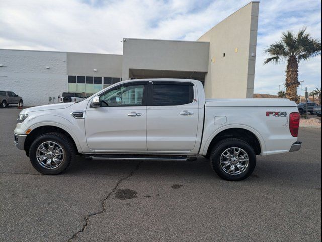
[[46,141],[37,148],[36,158],[46,169],[56,169],[64,160],[64,150],[53,141]]

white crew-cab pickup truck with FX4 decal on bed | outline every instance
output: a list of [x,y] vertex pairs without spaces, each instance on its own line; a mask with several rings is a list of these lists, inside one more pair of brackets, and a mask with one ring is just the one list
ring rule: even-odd
[[34,168],[58,174],[75,160],[210,159],[223,179],[247,178],[256,155],[297,151],[299,113],[288,99],[205,99],[191,79],[119,82],[78,103],[27,108],[14,131]]

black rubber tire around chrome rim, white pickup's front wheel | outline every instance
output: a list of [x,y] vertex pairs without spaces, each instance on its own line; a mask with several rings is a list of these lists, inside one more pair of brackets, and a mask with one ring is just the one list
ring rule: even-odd
[[[58,167],[56,167],[54,169],[49,169],[49,168],[43,167],[38,162],[37,157],[36,157],[38,147],[42,143],[48,142],[48,141],[57,143],[63,149],[63,152],[64,152],[62,162],[59,164]],[[56,132],[43,134],[43,135],[37,137],[32,142],[30,149],[29,149],[29,159],[30,159],[32,166],[38,172],[43,173],[45,175],[56,175],[56,174],[63,172],[64,170],[66,170],[68,168],[70,163],[73,162],[73,160],[75,160],[75,157],[76,157],[76,151],[75,151],[72,141],[68,137],[66,137],[65,135],[63,135],[61,133],[56,133]]]

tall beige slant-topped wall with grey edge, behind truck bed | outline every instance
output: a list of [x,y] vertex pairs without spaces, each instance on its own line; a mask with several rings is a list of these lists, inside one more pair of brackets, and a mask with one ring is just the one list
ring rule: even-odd
[[210,42],[207,98],[253,97],[258,11],[253,1],[198,39]]

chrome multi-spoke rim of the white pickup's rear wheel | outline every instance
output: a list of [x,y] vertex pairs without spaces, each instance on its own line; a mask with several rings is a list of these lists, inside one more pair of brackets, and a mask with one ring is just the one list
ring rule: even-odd
[[249,165],[249,157],[245,150],[231,147],[222,152],[220,156],[220,167],[229,175],[243,173]]

